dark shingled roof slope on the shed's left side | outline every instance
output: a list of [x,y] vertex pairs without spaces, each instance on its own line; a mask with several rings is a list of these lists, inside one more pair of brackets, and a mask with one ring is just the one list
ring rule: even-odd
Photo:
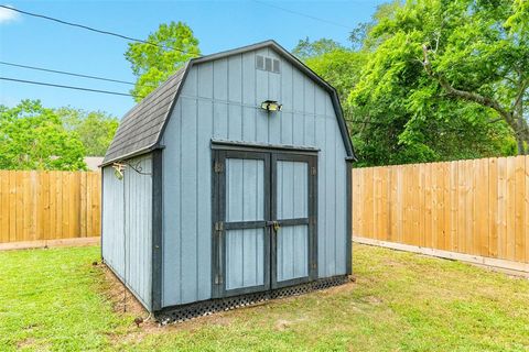
[[185,66],[127,112],[107,150],[104,165],[155,146],[184,73]]

